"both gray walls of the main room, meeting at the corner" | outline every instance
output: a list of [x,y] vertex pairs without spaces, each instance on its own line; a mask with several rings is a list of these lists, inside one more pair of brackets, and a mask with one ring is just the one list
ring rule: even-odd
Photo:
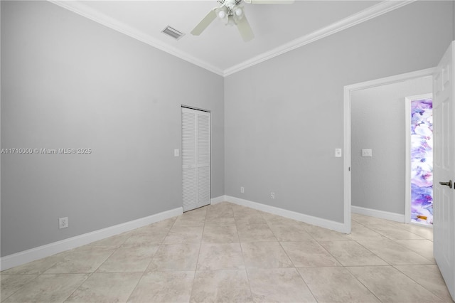
[[436,65],[453,11],[417,1],[223,80],[48,2],[1,1],[1,147],[93,151],[1,156],[1,255],[181,207],[181,104],[212,111],[213,197],[342,222],[343,86]]

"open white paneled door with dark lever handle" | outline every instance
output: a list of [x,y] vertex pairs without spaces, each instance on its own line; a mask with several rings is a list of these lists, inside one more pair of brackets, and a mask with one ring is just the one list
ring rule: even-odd
[[446,50],[433,84],[434,259],[455,299],[454,42]]

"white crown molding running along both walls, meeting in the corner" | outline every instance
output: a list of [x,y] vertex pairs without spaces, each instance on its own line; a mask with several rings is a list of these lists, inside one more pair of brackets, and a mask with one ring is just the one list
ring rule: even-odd
[[249,68],[253,65],[259,64],[264,62],[265,60],[269,60],[271,58],[276,57],[277,55],[282,55],[283,53],[287,53],[290,50],[294,50],[295,48],[299,48],[301,46],[305,46],[306,44],[312,43],[314,41],[318,41],[319,39],[325,38],[327,36],[333,35],[333,33],[338,33],[338,31],[343,31],[346,28],[350,28],[357,24],[363,23],[368,21],[372,18],[378,17],[382,14],[388,13],[389,11],[393,11],[395,9],[399,9],[402,6],[407,4],[411,4],[416,0],[405,0],[405,1],[381,1],[378,4],[370,6],[368,9],[364,9],[363,11],[359,11],[357,14],[353,14],[348,16],[347,18],[343,18],[338,22],[332,23],[328,26],[320,28],[317,31],[309,33],[306,36],[302,36],[300,38],[296,38],[293,41],[283,44],[277,48],[264,52],[260,55],[257,55],[249,60],[245,60],[242,63],[237,65],[233,65],[230,68],[223,70],[222,68],[218,68],[210,63],[207,63],[205,60],[200,60],[193,55],[189,55],[178,48],[170,46],[159,39],[153,38],[142,31],[139,31],[137,28],[132,28],[125,23],[117,21],[114,18],[111,18],[105,14],[100,13],[95,9],[90,8],[83,4],[84,1],[64,1],[64,0],[48,0],[50,3],[55,5],[61,6],[69,11],[73,11],[80,16],[84,16],[85,18],[89,18],[92,21],[100,23],[104,26],[114,29],[115,31],[119,31],[120,33],[124,33],[127,36],[130,36],[134,39],[142,41],[149,46],[153,46],[158,48],[159,50],[163,50],[166,53],[170,53],[171,55],[175,55],[178,58],[188,61],[189,63],[193,63],[194,65],[198,65],[200,68],[205,68],[206,70],[210,70],[218,75],[227,76],[232,75],[233,73],[237,73],[240,70],[244,70],[245,68]]

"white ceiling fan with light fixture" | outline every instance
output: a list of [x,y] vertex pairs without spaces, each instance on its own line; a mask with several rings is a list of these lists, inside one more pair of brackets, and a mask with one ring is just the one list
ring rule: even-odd
[[243,41],[247,42],[255,38],[250,23],[245,16],[243,2],[247,4],[293,4],[294,0],[218,0],[220,6],[215,7],[193,28],[191,34],[199,36],[215,18],[219,18],[226,25],[236,25]]

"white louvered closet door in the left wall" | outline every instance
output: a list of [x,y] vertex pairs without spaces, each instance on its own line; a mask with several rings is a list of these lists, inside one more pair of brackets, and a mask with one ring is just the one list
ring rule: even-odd
[[210,204],[210,112],[182,107],[183,211]]

